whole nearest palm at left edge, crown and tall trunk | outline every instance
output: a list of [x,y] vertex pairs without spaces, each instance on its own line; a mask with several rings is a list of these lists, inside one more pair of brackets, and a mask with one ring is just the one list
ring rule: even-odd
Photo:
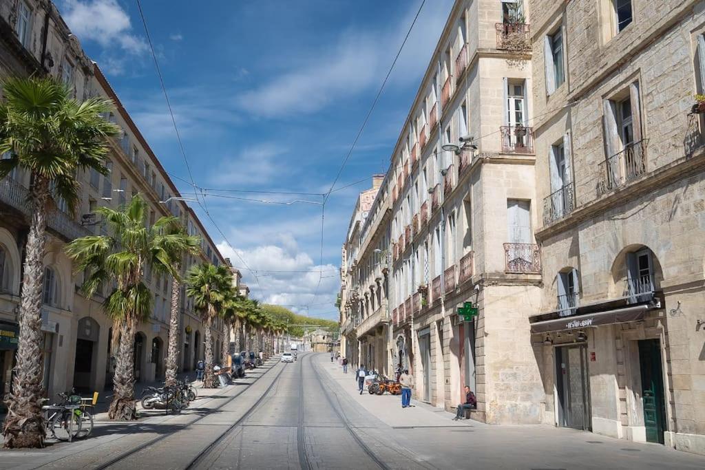
[[20,337],[12,392],[7,395],[8,416],[3,433],[5,447],[43,447],[42,423],[42,289],[47,213],[55,197],[73,213],[80,185],[76,172],[93,168],[106,173],[108,151],[104,137],[119,128],[101,114],[111,101],[72,98],[65,85],[51,78],[9,78],[3,82],[5,101],[0,104],[0,178],[15,168],[30,173],[27,204],[31,209],[25,247],[24,278],[20,297]]

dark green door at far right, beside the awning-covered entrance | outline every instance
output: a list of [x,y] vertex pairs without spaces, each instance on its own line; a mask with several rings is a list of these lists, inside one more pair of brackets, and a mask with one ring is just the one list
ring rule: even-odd
[[663,403],[663,371],[658,340],[639,341],[639,366],[642,372],[642,403],[646,440],[663,444],[666,412]]

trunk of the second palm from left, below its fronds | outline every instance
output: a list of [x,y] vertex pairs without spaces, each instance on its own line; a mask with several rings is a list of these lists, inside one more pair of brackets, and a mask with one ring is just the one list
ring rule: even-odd
[[122,325],[109,419],[137,419],[135,407],[135,325],[128,319]]

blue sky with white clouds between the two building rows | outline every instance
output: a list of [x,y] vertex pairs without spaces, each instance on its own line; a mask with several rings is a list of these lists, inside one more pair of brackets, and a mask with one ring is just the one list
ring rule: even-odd
[[[185,180],[172,178],[180,192],[193,193],[136,1],[56,3],[166,171]],[[420,4],[142,0],[193,180],[207,188],[204,207],[190,205],[251,297],[338,319],[357,196],[388,167],[452,0],[424,4],[324,214],[318,194],[331,188]]]

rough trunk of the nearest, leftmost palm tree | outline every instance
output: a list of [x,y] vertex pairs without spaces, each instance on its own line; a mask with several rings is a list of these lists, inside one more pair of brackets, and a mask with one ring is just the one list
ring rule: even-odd
[[32,188],[32,220],[27,236],[25,276],[20,299],[20,335],[12,392],[7,395],[8,412],[3,434],[5,447],[44,447],[42,419],[42,290],[44,249],[47,245],[47,199],[49,181],[35,178]]

